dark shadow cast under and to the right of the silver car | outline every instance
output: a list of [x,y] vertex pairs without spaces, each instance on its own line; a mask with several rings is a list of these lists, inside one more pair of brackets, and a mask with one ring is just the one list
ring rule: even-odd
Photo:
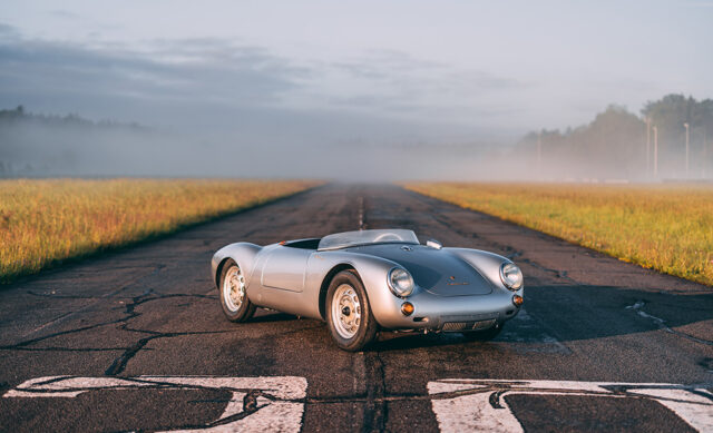
[[[250,323],[297,321],[299,317],[260,311]],[[490,345],[605,338],[661,331],[713,346],[711,293],[665,293],[614,286],[529,286],[525,307],[505,324],[494,342],[470,342],[460,333],[382,331],[365,351],[384,352],[461,344]],[[555,350],[554,347],[553,350]],[[565,350],[560,345],[560,350]]]

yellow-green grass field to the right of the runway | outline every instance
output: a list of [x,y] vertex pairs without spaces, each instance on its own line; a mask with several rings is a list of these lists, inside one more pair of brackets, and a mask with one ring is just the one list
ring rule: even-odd
[[713,285],[713,187],[412,183],[408,189]]

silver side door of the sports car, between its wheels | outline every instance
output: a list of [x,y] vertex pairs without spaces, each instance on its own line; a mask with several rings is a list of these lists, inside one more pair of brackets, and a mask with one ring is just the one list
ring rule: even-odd
[[304,291],[304,276],[312,250],[280,246],[268,253],[262,267],[262,286],[290,292]]

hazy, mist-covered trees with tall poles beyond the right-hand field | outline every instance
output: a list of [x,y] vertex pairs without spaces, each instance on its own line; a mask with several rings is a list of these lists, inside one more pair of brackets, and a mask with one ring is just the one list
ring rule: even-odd
[[612,105],[587,125],[531,131],[517,150],[536,160],[543,177],[557,167],[572,178],[710,178],[713,100],[666,95],[646,102],[641,116]]

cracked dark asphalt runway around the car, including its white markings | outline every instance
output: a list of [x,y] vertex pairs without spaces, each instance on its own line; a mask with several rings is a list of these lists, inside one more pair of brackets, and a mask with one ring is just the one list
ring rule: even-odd
[[[362,353],[318,321],[224,319],[217,248],[360,224],[511,257],[525,311],[494,342],[382,333]],[[711,287],[394,186],[318,188],[0,291],[0,431],[704,431],[712,388]]]

